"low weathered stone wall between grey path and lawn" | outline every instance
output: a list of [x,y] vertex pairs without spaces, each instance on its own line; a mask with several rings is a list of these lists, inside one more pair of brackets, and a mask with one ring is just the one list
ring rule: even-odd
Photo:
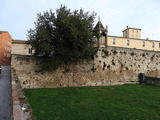
[[32,120],[31,112],[18,77],[12,69],[12,120]]

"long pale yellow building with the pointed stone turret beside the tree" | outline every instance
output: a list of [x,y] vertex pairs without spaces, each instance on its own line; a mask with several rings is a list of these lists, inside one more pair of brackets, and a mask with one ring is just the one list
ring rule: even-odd
[[124,48],[135,48],[140,50],[152,50],[160,51],[160,41],[141,39],[141,29],[139,28],[127,28],[122,31],[123,36],[111,36],[108,35],[108,28],[104,28],[101,21],[98,21],[94,28],[100,37],[96,41],[96,47],[124,47]]

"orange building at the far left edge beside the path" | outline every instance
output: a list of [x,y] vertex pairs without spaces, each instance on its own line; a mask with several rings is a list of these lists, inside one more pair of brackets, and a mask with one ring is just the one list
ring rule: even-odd
[[10,64],[12,38],[7,31],[0,31],[0,64]]

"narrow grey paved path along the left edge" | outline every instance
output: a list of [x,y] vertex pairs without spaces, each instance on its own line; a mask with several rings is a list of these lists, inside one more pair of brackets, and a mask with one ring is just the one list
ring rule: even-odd
[[0,120],[10,120],[10,66],[2,66],[0,74]]

